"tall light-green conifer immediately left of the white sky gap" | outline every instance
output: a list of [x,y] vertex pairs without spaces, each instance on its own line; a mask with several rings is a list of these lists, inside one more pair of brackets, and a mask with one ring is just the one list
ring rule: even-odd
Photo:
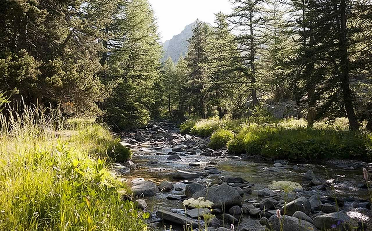
[[116,15],[106,30],[109,49],[103,56],[109,66],[105,75],[117,81],[117,87],[102,104],[102,119],[116,129],[144,125],[160,116],[163,104],[161,48],[153,10],[147,0],[124,4],[119,7],[124,13]]

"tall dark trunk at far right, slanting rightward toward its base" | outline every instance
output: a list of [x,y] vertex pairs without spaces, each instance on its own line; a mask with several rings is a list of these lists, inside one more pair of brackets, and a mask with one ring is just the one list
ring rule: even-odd
[[347,52],[347,31],[346,31],[346,0],[341,0],[340,3],[340,78],[341,89],[343,93],[343,101],[349,119],[351,130],[358,130],[359,123],[357,122],[356,115],[353,107],[352,94],[349,83],[349,57]]

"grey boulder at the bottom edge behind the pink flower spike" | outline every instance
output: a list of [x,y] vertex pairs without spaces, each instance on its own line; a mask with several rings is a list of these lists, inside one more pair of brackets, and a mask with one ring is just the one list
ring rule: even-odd
[[272,231],[314,231],[313,224],[293,216],[282,216],[279,219],[276,215],[272,215],[266,227]]

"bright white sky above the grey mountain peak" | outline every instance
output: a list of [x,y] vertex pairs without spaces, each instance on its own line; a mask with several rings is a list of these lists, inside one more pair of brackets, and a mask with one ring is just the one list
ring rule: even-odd
[[161,41],[183,31],[196,19],[214,25],[214,13],[231,12],[228,0],[149,0],[157,19]]

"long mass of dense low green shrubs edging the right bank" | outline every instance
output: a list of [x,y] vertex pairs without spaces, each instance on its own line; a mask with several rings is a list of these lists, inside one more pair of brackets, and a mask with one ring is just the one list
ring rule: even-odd
[[250,125],[228,143],[228,150],[235,154],[261,154],[289,160],[369,160],[370,143],[369,135],[359,132]]

